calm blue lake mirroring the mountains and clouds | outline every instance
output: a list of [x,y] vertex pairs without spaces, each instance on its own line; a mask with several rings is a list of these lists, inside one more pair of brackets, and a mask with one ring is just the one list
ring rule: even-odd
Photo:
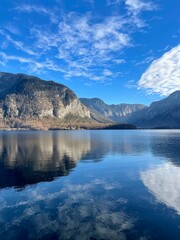
[[180,131],[0,132],[0,239],[180,239]]

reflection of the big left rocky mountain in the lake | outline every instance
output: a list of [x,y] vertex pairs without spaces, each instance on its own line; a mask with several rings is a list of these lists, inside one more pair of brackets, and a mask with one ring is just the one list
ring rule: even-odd
[[90,151],[89,134],[55,132],[0,135],[0,187],[24,186],[64,176]]

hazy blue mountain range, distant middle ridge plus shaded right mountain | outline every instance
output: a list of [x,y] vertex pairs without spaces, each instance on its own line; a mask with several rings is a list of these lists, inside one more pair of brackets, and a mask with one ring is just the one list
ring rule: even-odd
[[81,98],[81,102],[115,122],[136,125],[139,128],[180,128],[180,90],[167,98],[151,103],[108,105],[99,98]]

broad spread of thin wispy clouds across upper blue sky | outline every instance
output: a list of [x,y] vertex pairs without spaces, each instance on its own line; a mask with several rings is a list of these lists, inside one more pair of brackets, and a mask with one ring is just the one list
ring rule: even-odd
[[35,4],[18,5],[14,11],[20,16],[23,13],[29,16],[31,13],[40,14],[47,18],[45,22],[48,20],[48,25],[45,28],[42,23],[34,23],[31,19],[27,28],[21,29],[26,32],[23,40],[20,36],[14,36],[12,26],[2,28],[0,34],[4,38],[1,49],[6,47],[6,53],[9,54],[6,62],[12,61],[12,56],[17,53],[17,61],[23,63],[19,61],[22,60],[19,58],[19,53],[22,52],[22,56],[27,57],[24,59],[31,60],[24,63],[29,64],[29,69],[34,73],[46,69],[61,72],[64,78],[101,82],[120,76],[120,71],[114,69],[125,63],[124,51],[134,46],[133,33],[144,27],[139,14],[141,11],[152,10],[153,4],[140,0],[107,0],[105,3],[123,3],[123,15],[111,11],[103,17],[94,15],[91,11],[83,14],[61,11],[59,14],[57,6],[47,9]]

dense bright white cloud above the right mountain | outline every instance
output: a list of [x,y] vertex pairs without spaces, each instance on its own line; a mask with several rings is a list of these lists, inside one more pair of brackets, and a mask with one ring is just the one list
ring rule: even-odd
[[180,45],[166,52],[152,62],[142,74],[138,87],[146,89],[149,94],[158,93],[168,96],[180,89]]

